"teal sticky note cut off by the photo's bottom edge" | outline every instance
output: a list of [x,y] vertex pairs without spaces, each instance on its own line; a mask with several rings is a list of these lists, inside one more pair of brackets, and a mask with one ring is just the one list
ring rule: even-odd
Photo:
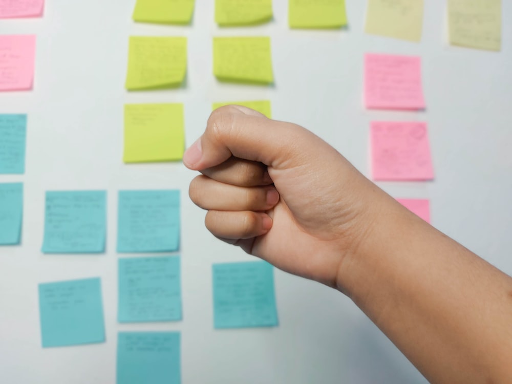
[[117,384],[180,384],[179,332],[119,332]]

